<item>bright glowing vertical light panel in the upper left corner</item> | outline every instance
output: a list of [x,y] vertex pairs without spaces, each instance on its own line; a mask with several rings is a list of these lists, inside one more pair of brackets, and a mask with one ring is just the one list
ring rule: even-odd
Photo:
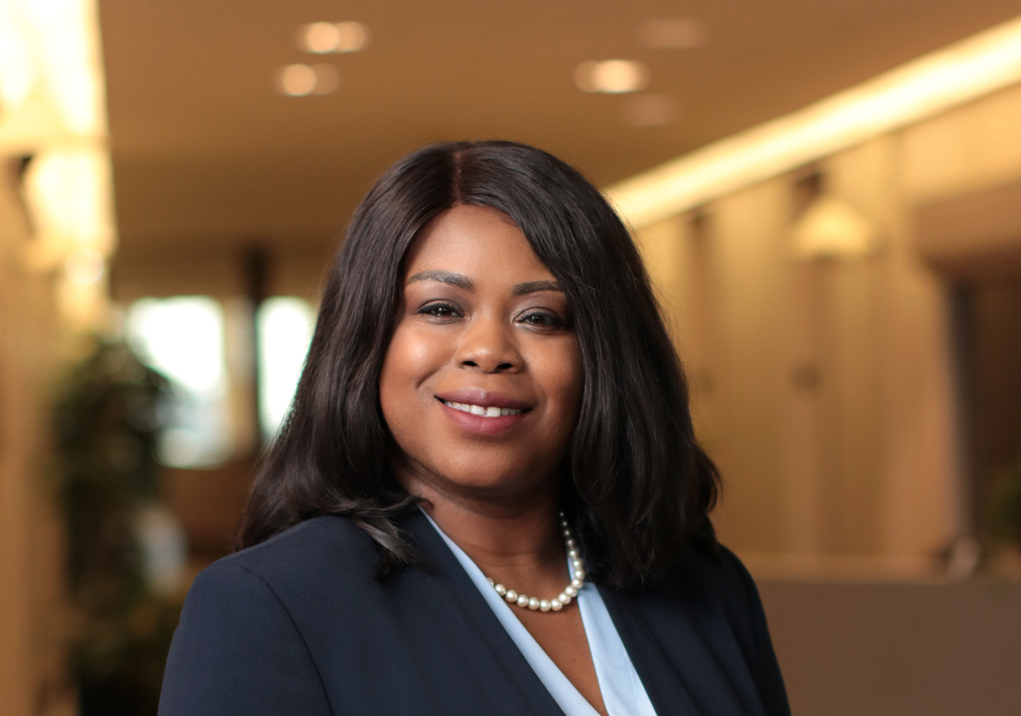
[[33,157],[23,268],[63,268],[58,312],[81,333],[108,316],[116,246],[104,95],[97,0],[0,0],[0,155]]

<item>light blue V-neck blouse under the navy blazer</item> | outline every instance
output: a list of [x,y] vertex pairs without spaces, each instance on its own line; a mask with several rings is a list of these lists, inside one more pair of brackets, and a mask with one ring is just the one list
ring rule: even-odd
[[[426,517],[443,538],[450,551],[453,552],[457,561],[460,562],[465,571],[482,593],[486,603],[493,610],[496,618],[507,630],[514,643],[518,645],[525,660],[535,670],[539,680],[549,691],[566,716],[598,716],[598,712],[568,680],[568,677],[564,675],[552,659],[542,651],[542,647],[515,616],[510,606],[496,594],[472,558],[443,533],[432,517],[429,517],[428,514]],[[585,625],[585,636],[588,638],[588,648],[592,652],[592,663],[595,666],[595,675],[599,680],[599,692],[602,694],[602,702],[606,707],[606,712],[610,716],[655,716],[652,703],[648,700],[645,687],[642,685],[641,679],[638,678],[631,658],[624,649],[624,644],[621,642],[620,634],[617,633],[617,627],[614,626],[614,622],[610,618],[610,613],[599,596],[599,591],[594,584],[586,581],[585,585],[578,592],[576,601],[581,611],[581,620]]]

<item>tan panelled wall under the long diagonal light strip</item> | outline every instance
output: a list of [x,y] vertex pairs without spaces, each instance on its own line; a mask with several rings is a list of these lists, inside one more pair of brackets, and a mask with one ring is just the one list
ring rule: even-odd
[[819,168],[824,191],[878,225],[873,255],[795,258],[791,175],[637,239],[724,474],[723,540],[764,569],[930,571],[968,505],[950,284],[918,251],[915,218],[1021,177],[1021,88]]

